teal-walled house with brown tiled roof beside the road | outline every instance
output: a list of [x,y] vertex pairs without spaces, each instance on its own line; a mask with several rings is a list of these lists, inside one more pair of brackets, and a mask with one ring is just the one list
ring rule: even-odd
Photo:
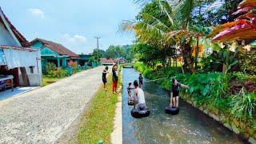
[[74,54],[62,44],[47,41],[42,38],[35,38],[30,42],[31,46],[41,51],[42,70],[45,69],[47,62],[54,62],[58,67],[66,69],[67,62],[74,61],[79,63],[79,55]]

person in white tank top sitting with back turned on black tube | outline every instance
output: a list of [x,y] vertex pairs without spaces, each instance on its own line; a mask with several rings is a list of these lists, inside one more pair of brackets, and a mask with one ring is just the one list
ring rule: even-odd
[[138,87],[138,81],[134,81],[134,109],[137,103],[138,98],[138,110],[146,110],[146,102],[145,102],[145,96],[144,92],[141,88]]

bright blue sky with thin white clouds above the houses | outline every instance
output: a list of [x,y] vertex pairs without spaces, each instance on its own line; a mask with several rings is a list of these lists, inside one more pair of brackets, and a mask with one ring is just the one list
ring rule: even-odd
[[134,19],[139,8],[133,0],[8,0],[0,6],[28,40],[43,38],[61,43],[76,54],[97,47],[132,44],[134,35],[118,33],[122,20]]

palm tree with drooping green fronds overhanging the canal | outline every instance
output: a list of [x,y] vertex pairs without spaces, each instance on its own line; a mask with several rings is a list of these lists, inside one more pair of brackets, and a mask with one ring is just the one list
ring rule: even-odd
[[[130,31],[134,30],[138,37],[138,42],[154,43],[154,45],[173,46],[179,45],[182,50],[186,64],[189,66],[193,74],[196,70],[191,59],[191,42],[192,39],[198,36],[209,34],[209,30],[200,26],[191,26],[192,15],[198,5],[206,2],[213,2],[213,0],[174,0],[159,1],[159,0],[135,0],[139,6],[150,2],[158,2],[161,7],[162,14],[165,14],[168,22],[162,22],[159,18],[142,13],[142,21],[123,21],[120,30]],[[176,42],[176,43],[174,43]]]

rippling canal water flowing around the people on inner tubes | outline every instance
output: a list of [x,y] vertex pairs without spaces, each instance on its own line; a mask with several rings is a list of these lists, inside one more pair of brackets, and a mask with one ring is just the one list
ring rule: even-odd
[[[134,82],[139,72],[123,69],[123,82]],[[144,78],[146,80],[146,78]],[[133,118],[128,106],[128,94],[123,85],[122,136],[123,143],[244,143],[242,138],[215,122],[189,103],[180,100],[178,115],[165,114],[170,104],[170,92],[153,82],[144,82],[146,106],[150,108],[147,118]],[[132,91],[132,93],[134,93]]]

